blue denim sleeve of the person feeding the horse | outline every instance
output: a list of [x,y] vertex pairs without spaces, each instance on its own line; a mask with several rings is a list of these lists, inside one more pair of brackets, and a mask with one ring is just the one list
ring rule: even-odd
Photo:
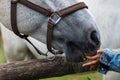
[[101,65],[98,71],[106,74],[108,71],[120,72],[120,53],[111,49],[105,49],[100,57]]

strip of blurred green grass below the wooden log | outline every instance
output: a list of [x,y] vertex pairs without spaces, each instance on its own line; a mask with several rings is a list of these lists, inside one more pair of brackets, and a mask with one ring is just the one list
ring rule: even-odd
[[102,75],[98,72],[86,72],[41,80],[102,80]]

